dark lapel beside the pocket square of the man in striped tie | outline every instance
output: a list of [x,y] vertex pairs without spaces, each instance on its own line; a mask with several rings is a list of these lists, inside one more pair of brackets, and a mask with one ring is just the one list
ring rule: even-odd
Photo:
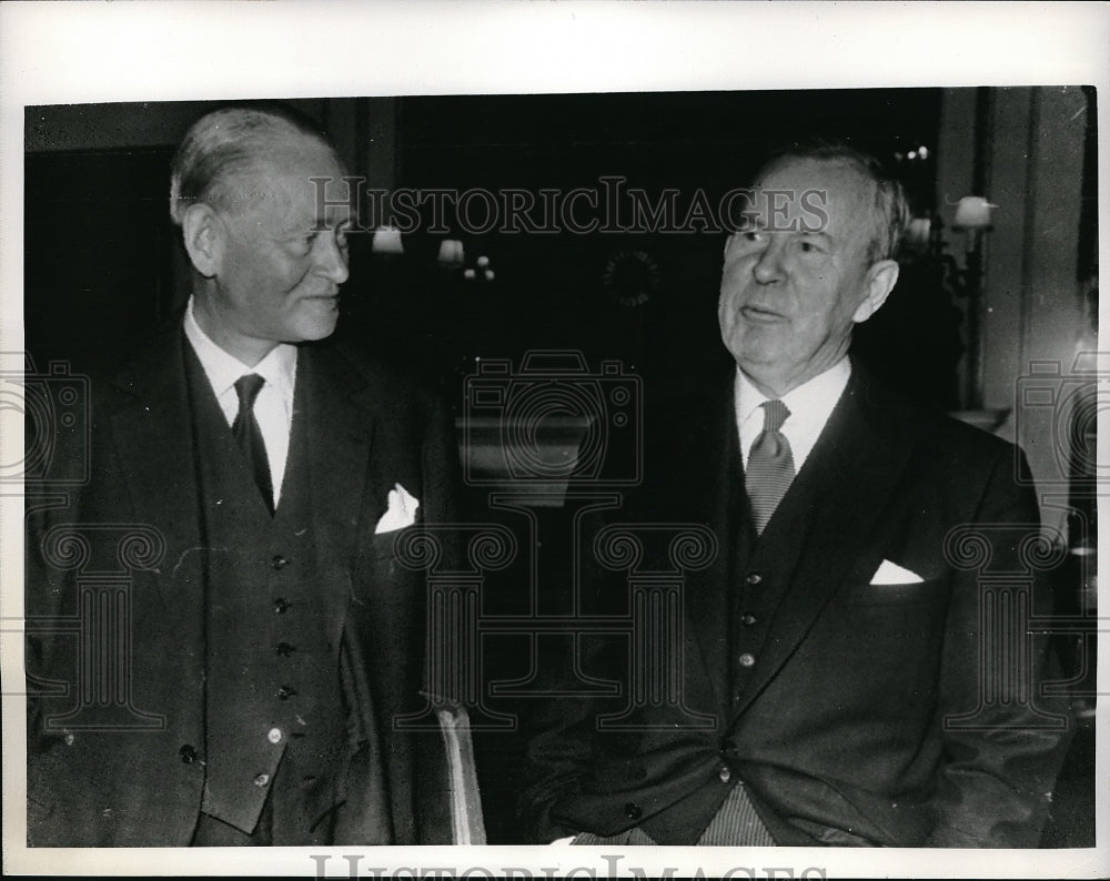
[[770,637],[736,712],[778,672],[871,540],[912,449],[866,372],[854,365],[847,389],[798,479],[811,479],[809,525]]

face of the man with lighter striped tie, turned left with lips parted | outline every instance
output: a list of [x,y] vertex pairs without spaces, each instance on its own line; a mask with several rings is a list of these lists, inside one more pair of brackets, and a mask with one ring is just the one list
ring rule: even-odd
[[779,396],[840,360],[897,264],[868,265],[874,184],[850,165],[788,159],[754,190],[749,225],[725,245],[717,317],[736,363]]

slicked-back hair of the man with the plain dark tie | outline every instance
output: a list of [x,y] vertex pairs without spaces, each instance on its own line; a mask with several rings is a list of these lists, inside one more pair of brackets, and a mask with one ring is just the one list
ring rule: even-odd
[[306,118],[276,109],[224,108],[201,117],[185,133],[170,174],[170,217],[181,225],[196,203],[228,207],[235,201],[230,182],[273,155],[283,140],[315,139],[334,148]]

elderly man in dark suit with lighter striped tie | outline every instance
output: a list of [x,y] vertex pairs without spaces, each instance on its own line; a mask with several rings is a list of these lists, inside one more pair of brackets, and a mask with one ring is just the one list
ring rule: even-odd
[[[683,573],[679,699],[543,702],[524,816],[539,841],[1035,847],[1067,718],[1028,628],[1049,598],[1023,458],[847,354],[898,277],[905,199],[878,163],[818,144],[756,181],[725,247],[733,357],[648,397],[667,421],[622,513],[719,548]],[[584,608],[627,614],[622,587]],[[578,640],[577,675],[627,683],[627,641]]]

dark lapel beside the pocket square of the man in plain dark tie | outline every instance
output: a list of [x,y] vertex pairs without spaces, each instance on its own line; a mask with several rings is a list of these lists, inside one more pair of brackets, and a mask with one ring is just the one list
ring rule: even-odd
[[303,346],[297,362],[296,416],[307,421],[312,523],[321,558],[342,564],[341,577],[323,579],[322,600],[339,639],[346,616],[360,536],[373,533],[385,512],[386,490],[372,486],[373,403],[365,381],[341,354]]

